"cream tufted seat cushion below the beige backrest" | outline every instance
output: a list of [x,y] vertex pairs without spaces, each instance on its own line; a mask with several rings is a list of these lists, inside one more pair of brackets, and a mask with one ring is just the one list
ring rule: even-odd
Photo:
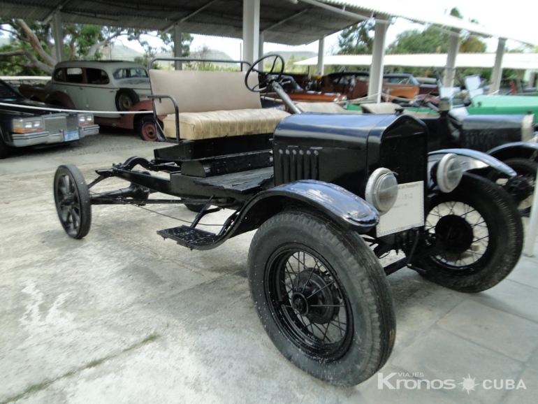
[[[270,134],[289,113],[272,108],[180,113],[180,138],[201,140],[227,136]],[[164,136],[175,138],[175,115],[164,121]]]

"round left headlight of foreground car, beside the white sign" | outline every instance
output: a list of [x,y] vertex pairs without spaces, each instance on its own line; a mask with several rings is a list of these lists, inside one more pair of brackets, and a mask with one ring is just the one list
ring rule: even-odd
[[366,201],[384,215],[398,197],[398,181],[388,168],[377,168],[366,183]]

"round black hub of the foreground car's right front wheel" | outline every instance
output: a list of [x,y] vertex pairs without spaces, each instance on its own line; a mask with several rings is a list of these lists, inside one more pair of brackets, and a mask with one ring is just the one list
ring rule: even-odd
[[463,217],[447,215],[435,225],[435,235],[442,240],[446,252],[461,254],[470,249],[474,233]]

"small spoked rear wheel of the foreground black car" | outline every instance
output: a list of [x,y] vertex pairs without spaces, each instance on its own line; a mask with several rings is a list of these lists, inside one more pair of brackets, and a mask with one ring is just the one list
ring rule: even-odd
[[59,166],[56,170],[54,202],[61,226],[68,236],[85,237],[92,225],[92,203],[84,176],[73,164]]

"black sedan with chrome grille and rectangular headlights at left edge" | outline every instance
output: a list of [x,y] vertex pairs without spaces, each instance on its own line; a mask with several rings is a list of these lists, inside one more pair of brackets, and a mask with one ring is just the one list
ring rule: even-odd
[[91,113],[56,112],[57,106],[25,99],[0,80],[0,159],[11,147],[44,147],[99,134]]

